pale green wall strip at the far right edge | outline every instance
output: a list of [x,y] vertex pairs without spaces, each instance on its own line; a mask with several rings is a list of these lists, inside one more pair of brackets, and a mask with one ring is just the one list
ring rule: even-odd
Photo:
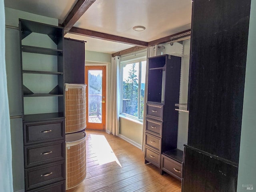
[[[244,106],[238,168],[238,192],[256,191],[256,1],[251,2]],[[252,185],[253,190],[247,190]],[[250,186],[249,186],[250,187]]]

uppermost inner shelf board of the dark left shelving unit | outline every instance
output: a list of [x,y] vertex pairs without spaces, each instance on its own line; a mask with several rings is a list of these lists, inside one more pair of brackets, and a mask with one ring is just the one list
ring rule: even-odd
[[34,46],[28,46],[28,45],[22,45],[21,49],[22,49],[22,52],[28,52],[28,53],[38,53],[38,54],[46,54],[46,55],[62,54],[62,50],[60,49],[49,49],[49,48],[34,47]]

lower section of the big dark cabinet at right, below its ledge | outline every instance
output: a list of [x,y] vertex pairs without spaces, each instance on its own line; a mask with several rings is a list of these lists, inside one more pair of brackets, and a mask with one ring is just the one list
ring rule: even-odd
[[236,192],[238,167],[187,147],[184,156],[182,192]]

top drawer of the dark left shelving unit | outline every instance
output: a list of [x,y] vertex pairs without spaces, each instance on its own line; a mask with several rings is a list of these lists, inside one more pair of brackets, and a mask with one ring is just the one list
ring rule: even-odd
[[25,122],[24,145],[65,139],[64,119]]

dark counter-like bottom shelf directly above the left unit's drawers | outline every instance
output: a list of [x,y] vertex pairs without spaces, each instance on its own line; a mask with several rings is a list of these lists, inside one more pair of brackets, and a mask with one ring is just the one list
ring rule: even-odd
[[53,120],[53,119],[63,119],[63,113],[42,113],[42,114],[30,114],[24,115],[23,121],[24,122],[31,122],[31,121],[43,121],[43,120]]

